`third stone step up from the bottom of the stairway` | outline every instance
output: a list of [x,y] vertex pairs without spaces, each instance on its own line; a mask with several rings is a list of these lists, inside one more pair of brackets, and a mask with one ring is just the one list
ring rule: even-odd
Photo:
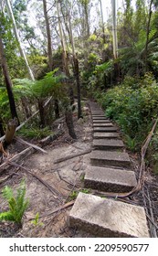
[[117,151],[94,150],[90,153],[90,163],[96,166],[130,167],[131,161],[127,153]]

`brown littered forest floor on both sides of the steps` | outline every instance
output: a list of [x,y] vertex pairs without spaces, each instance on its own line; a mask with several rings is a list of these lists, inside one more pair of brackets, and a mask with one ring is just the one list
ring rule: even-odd
[[[74,116],[75,131],[78,139],[72,140],[68,135],[66,124],[63,123],[64,133],[54,142],[44,147],[47,154],[35,152],[26,156],[18,166],[11,166],[0,177],[0,191],[3,187],[19,187],[20,181],[26,180],[26,197],[29,198],[29,207],[23,219],[23,228],[17,229],[11,222],[0,222],[0,237],[34,237],[34,238],[68,238],[92,237],[89,233],[68,226],[68,213],[79,191],[94,193],[83,187],[85,170],[90,165],[90,150],[92,149],[92,122],[90,110],[84,112],[84,119],[77,121]],[[35,143],[35,141],[34,141]],[[10,145],[11,155],[23,150],[26,146],[15,142]],[[89,153],[88,153],[89,152]],[[82,154],[83,153],[83,154]],[[132,159],[132,167],[139,172],[139,156],[128,152]],[[55,163],[59,158],[78,155],[68,160]],[[20,167],[21,165],[21,167]],[[6,180],[5,178],[8,177]],[[37,178],[40,178],[39,179]],[[5,181],[3,181],[5,180]],[[147,219],[154,221],[153,226],[158,226],[158,176],[153,176],[147,170],[144,176],[142,191],[124,198],[133,204],[146,208]],[[63,208],[62,208],[63,207]],[[7,209],[5,199],[0,195],[0,212]],[[152,209],[152,212],[151,212]],[[32,223],[39,213],[38,224]],[[149,225],[152,222],[150,221]],[[150,229],[153,231],[153,226]],[[158,233],[157,233],[158,235]]]

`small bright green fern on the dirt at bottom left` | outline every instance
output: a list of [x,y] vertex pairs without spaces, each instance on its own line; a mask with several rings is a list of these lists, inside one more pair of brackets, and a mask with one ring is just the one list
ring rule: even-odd
[[2,190],[3,197],[7,200],[9,210],[0,213],[0,221],[9,220],[16,222],[17,225],[22,225],[22,218],[28,207],[28,199],[26,199],[26,184],[23,180],[20,187],[16,190],[16,197],[11,187],[5,186]]

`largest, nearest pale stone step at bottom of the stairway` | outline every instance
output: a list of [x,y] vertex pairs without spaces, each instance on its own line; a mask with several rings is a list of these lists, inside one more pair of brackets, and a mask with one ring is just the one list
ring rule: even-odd
[[79,193],[69,225],[103,238],[149,238],[142,207]]

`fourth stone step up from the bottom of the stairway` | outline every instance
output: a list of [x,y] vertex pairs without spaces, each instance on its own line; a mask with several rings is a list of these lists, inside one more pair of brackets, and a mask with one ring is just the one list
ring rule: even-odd
[[122,149],[124,144],[121,140],[94,139],[93,147],[101,150],[116,150]]

